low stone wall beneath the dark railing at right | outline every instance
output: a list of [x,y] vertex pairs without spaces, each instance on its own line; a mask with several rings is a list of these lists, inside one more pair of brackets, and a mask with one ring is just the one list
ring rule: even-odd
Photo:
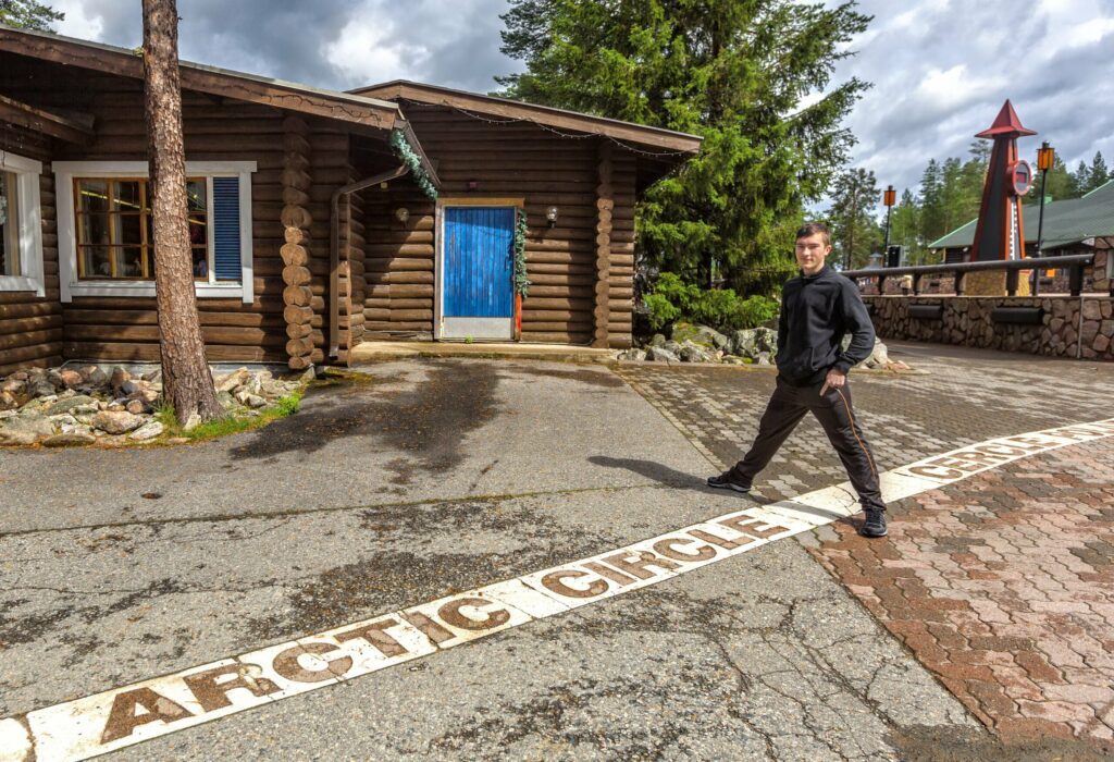
[[[1105,262],[1104,262],[1105,265]],[[879,338],[1114,361],[1114,297],[864,295]],[[913,305],[940,305],[939,319],[913,318]],[[1038,307],[1039,324],[1001,323],[994,310]],[[1082,330],[1081,330],[1082,329]]]

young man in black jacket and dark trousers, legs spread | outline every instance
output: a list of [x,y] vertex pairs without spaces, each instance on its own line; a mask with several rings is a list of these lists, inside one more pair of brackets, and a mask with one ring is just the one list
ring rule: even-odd
[[[828,228],[810,223],[797,232],[797,263],[801,274],[782,289],[778,325],[778,387],[762,414],[759,434],[733,468],[710,477],[710,487],[747,492],[797,424],[809,411],[824,428],[851,485],[859,494],[866,521],[864,537],[886,536],[886,504],[878,470],[854,419],[847,374],[870,356],[874,326],[859,289],[824,260],[832,251]],[[851,344],[840,349],[844,333]]]

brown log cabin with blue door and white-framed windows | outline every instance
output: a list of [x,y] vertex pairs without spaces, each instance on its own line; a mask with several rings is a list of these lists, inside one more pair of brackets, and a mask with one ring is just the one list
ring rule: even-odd
[[[628,346],[635,201],[700,149],[413,82],[180,78],[213,362],[343,364],[402,338]],[[146,143],[136,51],[0,26],[0,375],[158,360]]]

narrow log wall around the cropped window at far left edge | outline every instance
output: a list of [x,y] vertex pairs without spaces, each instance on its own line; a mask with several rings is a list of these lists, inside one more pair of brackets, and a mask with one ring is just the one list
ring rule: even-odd
[[46,295],[0,291],[0,375],[19,368],[61,362],[62,307],[58,292],[58,226],[50,138],[0,121],[0,150],[42,162],[39,196],[42,209],[42,271]]

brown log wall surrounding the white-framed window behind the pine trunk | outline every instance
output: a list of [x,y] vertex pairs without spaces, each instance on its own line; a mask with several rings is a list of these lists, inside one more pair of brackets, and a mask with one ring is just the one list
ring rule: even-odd
[[[85,106],[96,116],[96,136],[67,146],[59,160],[145,160],[141,84],[117,77],[78,76],[75,82],[96,97]],[[61,84],[59,84],[61,85]],[[67,90],[69,88],[66,88]],[[56,91],[66,99],[72,92]],[[86,100],[87,98],[81,98]],[[255,300],[199,299],[197,310],[211,361],[286,361],[283,319],[285,243],[283,208],[283,113],[265,106],[183,92],[186,160],[254,160],[252,235]],[[157,361],[158,324],[154,299],[80,297],[63,305],[67,359]]]

